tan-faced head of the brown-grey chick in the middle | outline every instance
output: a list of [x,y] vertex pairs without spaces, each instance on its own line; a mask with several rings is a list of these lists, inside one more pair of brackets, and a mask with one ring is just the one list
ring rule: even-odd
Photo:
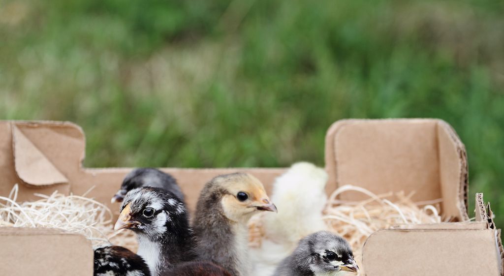
[[213,188],[221,194],[224,216],[235,222],[247,222],[262,211],[277,212],[263,184],[247,173],[233,173],[214,178]]

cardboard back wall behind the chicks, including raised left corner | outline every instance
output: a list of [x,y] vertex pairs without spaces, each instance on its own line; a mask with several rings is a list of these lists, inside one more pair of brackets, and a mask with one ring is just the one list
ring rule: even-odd
[[[19,201],[35,200],[34,193],[54,190],[88,196],[107,204],[117,212],[118,204],[110,198],[118,190],[131,168],[85,169],[85,137],[82,129],[69,122],[0,121],[0,195],[7,196],[20,185]],[[188,208],[194,210],[203,185],[213,177],[237,171],[249,172],[261,180],[267,190],[283,168],[162,169],[171,173],[187,196]]]

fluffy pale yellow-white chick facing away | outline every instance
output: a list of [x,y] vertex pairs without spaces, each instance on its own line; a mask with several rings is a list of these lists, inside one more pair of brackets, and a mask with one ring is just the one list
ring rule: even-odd
[[265,238],[251,249],[256,264],[254,276],[271,275],[276,266],[295,248],[298,241],[313,232],[327,230],[322,211],[327,202],[327,173],[311,163],[300,162],[278,177],[273,185],[272,202],[278,214],[264,214]]

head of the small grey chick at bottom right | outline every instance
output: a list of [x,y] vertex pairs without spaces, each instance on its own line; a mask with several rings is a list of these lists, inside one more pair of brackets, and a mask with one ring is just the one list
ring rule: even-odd
[[307,257],[309,268],[316,275],[336,276],[347,271],[357,272],[359,269],[350,244],[327,231],[316,232],[302,239],[296,251],[294,254]]

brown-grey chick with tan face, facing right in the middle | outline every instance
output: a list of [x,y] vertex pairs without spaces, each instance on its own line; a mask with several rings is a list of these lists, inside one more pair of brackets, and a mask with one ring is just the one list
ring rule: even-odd
[[263,184],[250,174],[220,175],[205,184],[194,219],[200,257],[234,276],[248,276],[247,222],[261,211],[277,212],[277,208]]

